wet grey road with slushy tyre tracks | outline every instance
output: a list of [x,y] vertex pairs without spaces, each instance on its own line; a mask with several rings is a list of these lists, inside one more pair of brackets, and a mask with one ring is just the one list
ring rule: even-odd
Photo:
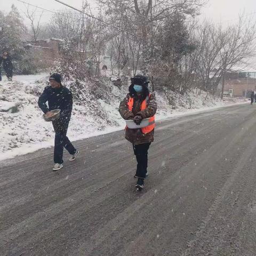
[[255,131],[250,105],[158,123],[142,193],[123,131],[0,162],[0,254],[255,256]]

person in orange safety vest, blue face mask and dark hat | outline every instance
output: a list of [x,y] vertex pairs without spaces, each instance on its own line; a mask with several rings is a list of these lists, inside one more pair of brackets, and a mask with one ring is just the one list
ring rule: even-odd
[[134,178],[137,178],[136,187],[141,190],[148,175],[148,149],[154,141],[157,103],[155,94],[149,92],[149,81],[146,76],[137,75],[131,78],[131,82],[129,93],[120,103],[119,113],[125,120],[132,119],[137,125],[140,125],[143,119],[149,118],[145,127],[125,127],[125,138],[132,143],[137,159],[137,170],[134,175]]

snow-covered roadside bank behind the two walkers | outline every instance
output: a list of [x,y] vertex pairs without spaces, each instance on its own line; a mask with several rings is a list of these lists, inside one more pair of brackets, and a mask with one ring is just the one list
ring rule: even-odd
[[[43,113],[37,106],[38,96],[46,86],[47,76],[48,74],[14,76],[13,82],[7,82],[3,77],[3,81],[0,82],[0,160],[53,146],[52,124],[44,121]],[[127,86],[118,88],[108,83],[107,86],[111,86],[111,101],[99,99],[94,102],[95,108],[102,108],[104,117],[97,117],[92,114],[93,109],[88,111],[88,106],[74,102],[68,130],[68,137],[71,140],[124,129],[125,122],[118,113],[118,107],[120,100],[127,93]],[[173,98],[177,100],[174,104],[176,108],[173,109],[167,103],[165,95],[156,94],[157,120],[231,103],[218,101],[205,93],[178,96],[173,94]]]

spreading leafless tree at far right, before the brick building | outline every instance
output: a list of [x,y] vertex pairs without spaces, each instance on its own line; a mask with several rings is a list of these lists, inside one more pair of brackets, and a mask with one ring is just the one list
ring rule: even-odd
[[225,75],[236,65],[247,62],[255,49],[255,23],[245,15],[237,24],[223,28],[204,21],[195,30],[196,50],[192,53],[195,61],[195,78],[201,81],[202,89],[217,92],[222,81],[221,98]]

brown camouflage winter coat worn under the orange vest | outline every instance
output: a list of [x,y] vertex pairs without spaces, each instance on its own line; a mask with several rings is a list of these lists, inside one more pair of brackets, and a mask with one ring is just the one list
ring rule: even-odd
[[[121,101],[119,106],[119,113],[125,120],[133,119],[134,116],[140,115],[143,119],[149,118],[155,115],[157,109],[157,103],[155,94],[151,93],[147,101],[147,108],[145,110],[140,110],[142,101],[149,94],[148,89],[142,95],[137,95],[133,89],[133,85],[129,88],[130,93],[127,94],[126,98]],[[129,97],[133,98],[133,108],[132,111],[129,110],[128,102]],[[154,141],[154,130],[143,134],[141,129],[129,129],[125,130],[125,139],[133,143],[134,145],[139,145],[143,143],[149,143]]]

